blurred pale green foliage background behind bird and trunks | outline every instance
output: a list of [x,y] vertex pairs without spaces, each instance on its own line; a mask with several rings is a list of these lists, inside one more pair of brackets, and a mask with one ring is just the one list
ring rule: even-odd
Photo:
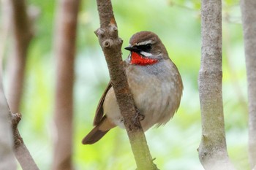
[[[56,1],[28,0],[40,11],[27,59],[21,104],[20,134],[39,168],[48,170],[53,157],[53,97],[55,58],[53,38]],[[200,69],[200,1],[113,0],[119,36],[128,45],[138,31],[154,31],[167,47],[184,82],[177,114],[165,126],[146,132],[151,155],[159,169],[202,170],[197,156],[200,144],[200,104],[197,74]],[[249,169],[247,158],[247,97],[241,12],[238,0],[223,1],[223,102],[227,149],[238,170]],[[108,68],[94,31],[99,27],[96,1],[83,0],[78,16],[75,61],[75,169],[129,170],[135,161],[124,130],[116,128],[94,145],[81,139],[92,128],[97,102],[109,81]],[[6,55],[8,55],[7,48]],[[123,50],[123,57],[128,52]],[[6,77],[7,79],[7,77]],[[6,86],[7,80],[5,81]]]

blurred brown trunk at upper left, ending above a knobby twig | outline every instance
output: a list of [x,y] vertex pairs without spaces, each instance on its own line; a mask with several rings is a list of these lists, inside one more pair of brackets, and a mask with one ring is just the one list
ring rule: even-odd
[[11,0],[12,29],[14,31],[14,50],[9,59],[9,88],[7,100],[11,112],[20,112],[20,98],[23,91],[23,81],[26,67],[26,55],[32,38],[31,25],[26,12],[25,0]]

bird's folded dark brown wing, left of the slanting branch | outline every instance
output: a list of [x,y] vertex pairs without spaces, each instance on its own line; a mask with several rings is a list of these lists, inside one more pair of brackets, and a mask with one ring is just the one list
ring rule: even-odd
[[103,103],[105,101],[105,97],[108,93],[108,90],[112,87],[111,82],[108,83],[108,86],[104,93],[102,94],[102,97],[99,100],[99,104],[96,109],[95,117],[94,117],[94,125],[99,125],[99,123],[102,122],[102,118],[104,116],[104,111],[103,111]]

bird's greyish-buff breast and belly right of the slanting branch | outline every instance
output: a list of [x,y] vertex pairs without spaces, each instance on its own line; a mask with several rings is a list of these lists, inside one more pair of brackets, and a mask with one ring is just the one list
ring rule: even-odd
[[181,94],[176,95],[180,93],[177,75],[178,71],[169,61],[152,66],[127,67],[127,79],[135,105],[145,115],[141,121],[144,131],[154,124],[167,123],[178,109]]

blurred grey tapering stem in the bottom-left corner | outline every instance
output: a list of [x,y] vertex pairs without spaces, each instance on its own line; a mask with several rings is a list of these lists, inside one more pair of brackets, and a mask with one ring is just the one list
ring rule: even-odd
[[[1,59],[1,58],[0,58]],[[0,61],[1,64],[1,61]],[[10,124],[10,111],[4,96],[0,65],[0,169],[16,169],[13,154],[12,127]]]

